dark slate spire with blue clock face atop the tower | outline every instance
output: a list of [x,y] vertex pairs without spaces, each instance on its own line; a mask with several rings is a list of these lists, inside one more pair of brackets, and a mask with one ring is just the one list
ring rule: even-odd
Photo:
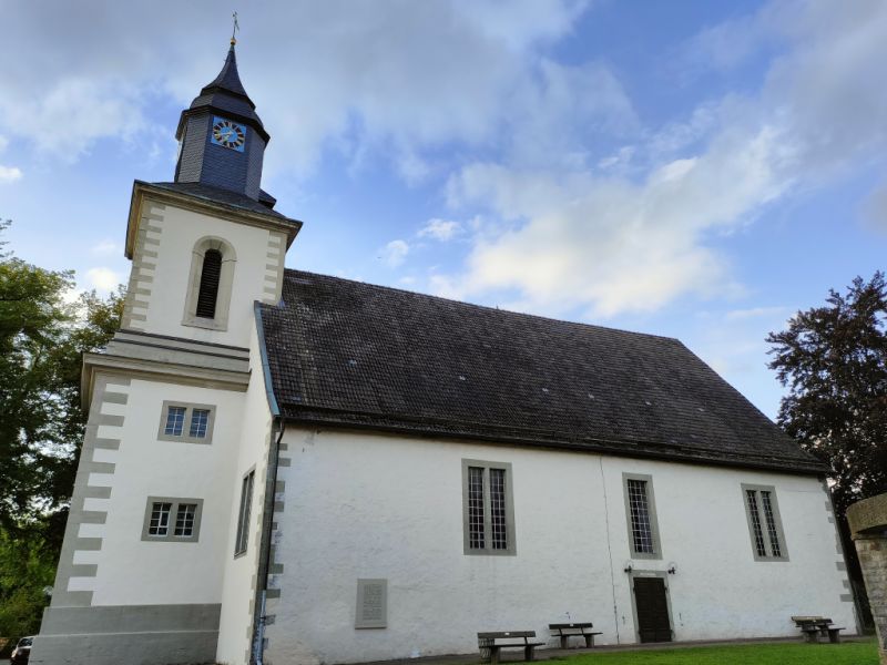
[[[201,183],[259,200],[262,162],[271,136],[237,72],[235,40],[222,71],[182,111],[175,182]],[[222,134],[214,125],[223,125]],[[223,141],[220,141],[220,136]]]

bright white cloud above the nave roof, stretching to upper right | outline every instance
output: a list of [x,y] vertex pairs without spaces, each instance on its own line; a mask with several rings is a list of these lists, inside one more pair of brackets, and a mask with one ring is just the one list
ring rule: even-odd
[[873,84],[887,79],[887,3],[845,11],[797,1],[757,20],[786,45],[758,93],[706,101],[652,133],[630,155],[646,161],[643,171],[606,171],[618,153],[595,164],[609,177],[579,163],[540,170],[520,161],[479,162],[452,176],[453,208],[480,207],[501,224],[479,229],[465,269],[436,276],[432,288],[595,317],[655,310],[685,294],[742,293],[712,238],[887,147],[887,89]]

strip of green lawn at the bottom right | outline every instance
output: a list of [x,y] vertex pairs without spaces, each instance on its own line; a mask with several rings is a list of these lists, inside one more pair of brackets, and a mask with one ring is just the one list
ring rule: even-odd
[[736,644],[656,651],[587,652],[564,665],[878,665],[874,640],[843,644]]

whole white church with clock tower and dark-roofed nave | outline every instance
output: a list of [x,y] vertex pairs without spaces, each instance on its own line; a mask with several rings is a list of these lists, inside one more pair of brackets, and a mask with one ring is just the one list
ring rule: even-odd
[[856,630],[827,469],[680,341],[285,268],[302,223],[262,190],[233,40],[176,137],[172,182],[133,185],[121,328],[84,358],[34,665]]

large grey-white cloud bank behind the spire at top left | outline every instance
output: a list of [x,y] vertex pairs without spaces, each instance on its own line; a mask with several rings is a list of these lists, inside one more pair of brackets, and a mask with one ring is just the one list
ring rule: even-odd
[[[429,168],[422,151],[499,134],[516,100],[538,88],[539,65],[529,63],[570,32],[585,4],[521,0],[503,11],[492,0],[276,0],[242,8],[239,70],[276,146],[266,166],[305,175],[332,147],[347,158],[381,155],[420,182]],[[171,96],[185,106],[218,72],[228,27],[214,8],[210,0],[23,6],[7,17],[4,45],[19,57],[0,69],[0,121],[11,136],[68,160],[104,137],[172,142],[150,114]],[[133,29],[170,14],[177,20],[163,31]]]

